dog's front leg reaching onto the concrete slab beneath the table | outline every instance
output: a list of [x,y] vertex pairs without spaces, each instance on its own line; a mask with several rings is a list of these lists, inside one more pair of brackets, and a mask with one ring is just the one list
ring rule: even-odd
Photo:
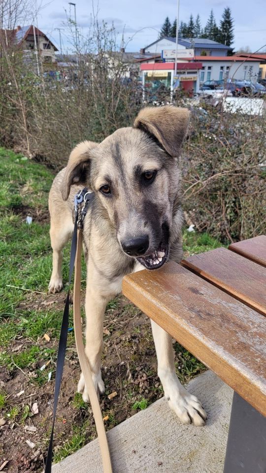
[[166,399],[171,409],[177,414],[181,422],[194,425],[204,425],[207,416],[198,399],[180,383],[174,366],[172,338],[151,320],[158,359],[158,376],[164,388]]

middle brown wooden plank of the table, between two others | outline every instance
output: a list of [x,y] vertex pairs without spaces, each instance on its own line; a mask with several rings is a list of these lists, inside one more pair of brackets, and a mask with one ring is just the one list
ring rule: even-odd
[[266,268],[263,266],[226,248],[189,256],[181,265],[266,315]]

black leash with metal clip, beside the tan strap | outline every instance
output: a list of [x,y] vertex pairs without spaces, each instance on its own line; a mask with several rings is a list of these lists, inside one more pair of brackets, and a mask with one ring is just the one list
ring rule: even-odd
[[[70,250],[70,263],[69,263],[69,287],[66,296],[66,303],[64,308],[64,314],[62,319],[58,353],[57,353],[57,365],[56,365],[56,378],[55,378],[55,391],[54,391],[54,412],[53,412],[53,423],[51,437],[47,452],[47,458],[45,463],[44,473],[52,472],[52,458],[53,458],[53,438],[54,438],[54,427],[55,427],[55,418],[56,418],[56,409],[58,405],[58,398],[60,393],[60,386],[62,381],[62,375],[65,364],[66,356],[66,341],[67,341],[67,331],[68,331],[68,318],[69,318],[69,295],[70,295],[70,283],[73,274],[73,269],[75,265],[75,256],[77,249],[77,229],[83,226],[83,221],[88,210],[88,205],[94,198],[93,192],[88,192],[88,189],[85,187],[82,191],[76,194],[74,198],[74,207],[75,207],[75,225],[71,241],[71,250]],[[84,203],[81,211],[79,212],[79,205]]]

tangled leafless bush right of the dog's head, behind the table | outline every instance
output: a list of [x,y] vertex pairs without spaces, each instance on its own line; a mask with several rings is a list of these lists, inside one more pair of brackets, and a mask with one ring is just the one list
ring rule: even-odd
[[224,241],[260,235],[266,230],[265,119],[206,110],[192,113],[180,160],[187,218]]

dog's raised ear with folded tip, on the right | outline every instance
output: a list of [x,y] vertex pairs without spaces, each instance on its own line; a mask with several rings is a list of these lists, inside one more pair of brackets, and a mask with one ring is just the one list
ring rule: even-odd
[[134,128],[155,136],[167,153],[176,157],[187,132],[189,115],[187,108],[173,105],[146,107],[140,110]]

